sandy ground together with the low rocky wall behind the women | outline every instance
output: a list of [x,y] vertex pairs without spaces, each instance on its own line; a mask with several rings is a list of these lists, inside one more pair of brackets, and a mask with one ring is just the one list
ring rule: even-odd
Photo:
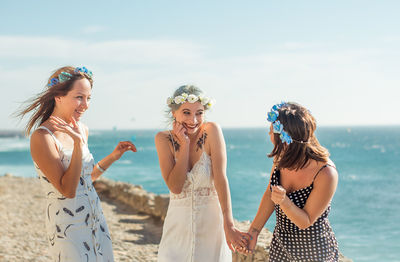
[[[141,186],[100,179],[95,188],[102,200],[115,261],[156,261],[169,195]],[[45,197],[38,179],[0,176],[0,261],[51,261],[44,235]],[[235,221],[246,230],[249,221]],[[233,261],[268,261],[272,233],[263,229],[255,253],[235,253]],[[341,255],[341,262],[350,262]]]

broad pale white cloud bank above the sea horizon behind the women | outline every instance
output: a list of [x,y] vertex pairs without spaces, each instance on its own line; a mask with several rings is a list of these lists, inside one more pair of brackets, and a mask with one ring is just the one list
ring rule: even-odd
[[12,101],[38,93],[51,70],[71,64],[95,74],[86,116],[93,128],[163,128],[165,98],[186,83],[216,98],[209,116],[222,126],[263,125],[267,109],[281,100],[310,107],[320,124],[399,124],[383,112],[395,112],[395,103],[387,101],[399,97],[400,78],[393,73],[398,60],[382,60],[391,50],[303,46],[310,48],[280,45],[256,55],[213,57],[209,46],[185,40],[0,36],[0,86],[6,88],[0,121],[12,126]]

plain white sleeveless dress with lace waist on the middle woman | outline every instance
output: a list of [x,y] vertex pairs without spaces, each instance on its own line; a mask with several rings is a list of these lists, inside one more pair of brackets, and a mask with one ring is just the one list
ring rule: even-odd
[[232,261],[214,187],[211,159],[204,151],[187,173],[182,192],[170,192],[158,261]]

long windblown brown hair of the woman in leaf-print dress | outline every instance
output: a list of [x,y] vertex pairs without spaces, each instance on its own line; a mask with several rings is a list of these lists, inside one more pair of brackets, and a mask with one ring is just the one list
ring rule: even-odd
[[[58,79],[61,72],[69,73],[71,75],[70,79],[52,85],[52,79]],[[33,115],[29,118],[29,122],[25,127],[25,135],[28,136],[33,128],[40,126],[49,119],[54,111],[55,97],[66,96],[72,89],[74,82],[83,78],[89,80],[91,87],[93,87],[91,75],[75,70],[75,67],[72,66],[64,66],[57,69],[49,77],[46,89],[35,97],[27,100],[25,103],[28,105],[16,113],[16,116],[22,119],[26,114],[33,112]]]

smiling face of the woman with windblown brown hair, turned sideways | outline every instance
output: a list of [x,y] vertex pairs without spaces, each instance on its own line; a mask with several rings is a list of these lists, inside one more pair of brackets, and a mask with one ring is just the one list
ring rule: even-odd
[[91,94],[92,87],[86,78],[76,80],[65,96],[56,97],[59,112],[68,120],[73,117],[79,121],[89,108]]

